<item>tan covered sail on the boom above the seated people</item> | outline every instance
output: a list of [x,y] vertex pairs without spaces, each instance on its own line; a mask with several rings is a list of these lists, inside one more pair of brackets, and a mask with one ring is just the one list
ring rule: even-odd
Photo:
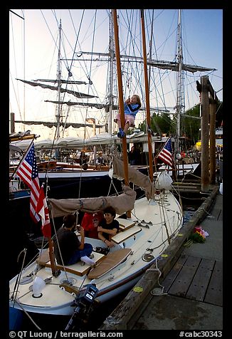
[[94,212],[97,209],[114,207],[117,214],[123,214],[134,208],[136,192],[128,186],[123,187],[124,193],[114,197],[97,197],[83,199],[48,199],[51,217],[63,217],[75,211]]

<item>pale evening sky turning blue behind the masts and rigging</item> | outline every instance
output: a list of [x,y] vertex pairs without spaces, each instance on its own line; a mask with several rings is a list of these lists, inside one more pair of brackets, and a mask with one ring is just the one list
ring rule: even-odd
[[[146,10],[147,11],[147,10]],[[145,13],[146,13],[145,11]],[[154,39],[152,39],[152,58],[173,61],[176,56],[176,23],[177,9],[154,10]],[[13,13],[14,12],[14,13]],[[56,92],[30,85],[24,85],[16,78],[25,80],[56,79],[58,69],[58,26],[62,25],[63,38],[60,46],[61,58],[68,59],[61,63],[62,78],[68,79],[68,71],[72,73],[70,80],[83,80],[86,85],[73,88],[81,93],[95,95],[97,103],[105,103],[107,93],[107,62],[106,61],[72,61],[74,51],[78,59],[90,58],[80,51],[94,51],[107,53],[109,44],[109,10],[95,9],[11,9],[9,12],[9,112],[15,113],[16,120],[56,120],[56,105],[45,103],[44,100],[57,100]],[[139,45],[139,10],[117,10],[120,27],[120,51],[130,53],[132,49],[137,55],[142,54],[142,45]],[[132,19],[133,16],[133,19]],[[152,10],[146,14],[146,31],[150,31],[149,19]],[[23,18],[23,19],[22,19]],[[209,80],[217,92],[219,100],[223,100],[223,10],[222,9],[184,9],[182,11],[183,26],[183,56],[184,62],[191,65],[216,68],[217,71],[190,74],[186,79],[186,87],[191,94],[185,95],[186,108],[199,103],[199,93],[196,92],[196,80],[201,75],[209,75]],[[132,35],[135,34],[135,43]],[[95,32],[93,40],[93,32]],[[149,33],[148,33],[149,35]],[[147,36],[148,36],[147,35]],[[78,38],[77,38],[78,37]],[[149,39],[148,39],[149,40]],[[125,49],[124,49],[124,46]],[[149,51],[149,41],[147,41]],[[97,58],[97,56],[95,56]],[[91,66],[91,67],[90,67]],[[126,68],[122,62],[124,81],[124,95],[132,95],[144,87],[141,66]],[[138,73],[140,79],[132,83],[131,72]],[[139,73],[139,71],[141,73]],[[173,108],[176,100],[175,85],[171,85],[171,77],[166,71],[152,69],[155,85],[151,85],[151,105],[154,107]],[[89,79],[93,82],[90,85]],[[53,83],[49,83],[54,85]],[[158,86],[160,89],[158,90]],[[141,94],[142,95],[142,94]],[[142,100],[144,98],[142,97]],[[65,97],[65,100],[70,98]],[[72,100],[77,101],[76,98]],[[165,103],[164,103],[165,100]],[[83,100],[87,102],[87,100]],[[94,102],[94,100],[90,100]],[[65,106],[65,107],[64,107]],[[69,121],[85,122],[86,118],[96,118],[96,122],[105,123],[104,111],[71,106],[70,110],[63,105],[63,115],[68,113]],[[144,113],[139,113],[136,123],[142,122]],[[65,119],[65,118],[64,118]],[[31,130],[41,139],[53,139],[54,130],[43,125],[23,126],[16,124],[19,130]],[[116,127],[115,127],[116,128]],[[88,136],[93,135],[93,129],[88,129]],[[62,132],[60,133],[62,135]],[[74,130],[69,127],[64,136],[83,137],[83,128]]]

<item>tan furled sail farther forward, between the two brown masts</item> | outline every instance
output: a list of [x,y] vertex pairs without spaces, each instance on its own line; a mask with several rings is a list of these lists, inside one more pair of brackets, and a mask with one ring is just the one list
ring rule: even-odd
[[[124,165],[122,160],[117,159],[114,157],[113,162],[113,177],[116,179],[122,180],[124,179]],[[149,176],[142,174],[134,167],[128,165],[128,179],[133,184],[141,187],[147,193],[147,199],[154,197],[155,188],[154,184],[151,182]]]

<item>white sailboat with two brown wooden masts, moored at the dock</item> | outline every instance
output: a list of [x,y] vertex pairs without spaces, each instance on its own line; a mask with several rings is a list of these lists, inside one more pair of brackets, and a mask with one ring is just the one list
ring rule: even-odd
[[[141,26],[144,36],[144,14],[141,10]],[[117,10],[112,10],[115,33],[115,53],[117,58],[117,80],[120,97],[120,116],[124,118],[120,48],[118,42]],[[146,90],[147,119],[149,123],[149,94],[147,83],[146,43],[144,41],[144,82]],[[151,135],[148,137],[149,162],[152,163]],[[112,206],[117,213],[120,231],[112,236],[115,246],[108,254],[93,251],[96,266],[92,268],[80,262],[58,265],[53,259],[53,251],[46,250],[31,265],[23,268],[9,283],[9,305],[28,313],[46,315],[73,315],[75,300],[83,296],[85,286],[92,287],[88,300],[97,295],[104,302],[122,291],[135,286],[135,283],[154,262],[159,259],[167,246],[174,241],[183,223],[181,204],[166,187],[155,189],[152,166],[149,176],[139,173],[127,163],[126,137],[122,137],[123,161],[114,157],[112,176],[124,180],[124,193],[116,197],[97,197],[83,199],[48,199],[51,217],[63,217],[78,211],[94,212]],[[164,174],[165,175],[165,174]],[[165,180],[164,180],[165,181]],[[135,191],[129,182],[138,184],[146,197],[136,199]],[[127,219],[122,214],[127,214]],[[106,248],[100,239],[85,238],[85,242]],[[50,255],[49,255],[50,254]]]

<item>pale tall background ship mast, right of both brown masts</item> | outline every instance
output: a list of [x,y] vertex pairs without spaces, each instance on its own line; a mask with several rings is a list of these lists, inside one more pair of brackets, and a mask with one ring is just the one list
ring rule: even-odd
[[183,51],[182,51],[182,27],[181,27],[181,9],[178,11],[178,27],[177,27],[177,96],[176,96],[176,138],[175,153],[180,151],[179,137],[181,127],[181,115],[184,113],[184,83],[183,83]]

